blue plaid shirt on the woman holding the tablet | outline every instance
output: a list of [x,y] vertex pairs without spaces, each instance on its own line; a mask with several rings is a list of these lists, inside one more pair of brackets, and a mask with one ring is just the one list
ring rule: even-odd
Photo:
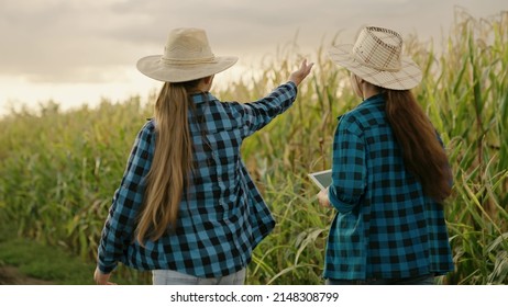
[[324,277],[404,278],[453,270],[442,205],[406,171],[383,94],[339,117],[329,197],[338,211]]

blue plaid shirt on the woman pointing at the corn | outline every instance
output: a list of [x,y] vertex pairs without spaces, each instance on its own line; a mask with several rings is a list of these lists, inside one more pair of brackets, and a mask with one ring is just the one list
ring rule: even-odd
[[285,112],[296,95],[292,82],[253,103],[224,103],[210,93],[194,94],[196,109],[189,112],[189,125],[195,168],[176,231],[142,248],[134,241],[135,218],[155,146],[155,123],[147,122],[112,200],[99,243],[99,270],[109,273],[120,261],[137,270],[219,277],[245,268],[275,221],[242,162],[240,147],[244,138]]

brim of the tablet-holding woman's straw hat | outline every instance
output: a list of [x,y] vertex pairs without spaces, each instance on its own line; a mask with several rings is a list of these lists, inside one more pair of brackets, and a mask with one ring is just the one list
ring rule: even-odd
[[409,90],[417,87],[422,78],[421,69],[409,57],[402,56],[398,71],[377,70],[355,60],[353,45],[338,45],[329,50],[330,58],[363,80],[390,90]]

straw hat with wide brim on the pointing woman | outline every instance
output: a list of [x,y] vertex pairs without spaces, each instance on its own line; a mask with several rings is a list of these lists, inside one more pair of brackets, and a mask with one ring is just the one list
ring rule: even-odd
[[221,72],[238,59],[232,56],[214,56],[203,30],[176,29],[169,32],[164,55],[143,57],[136,67],[143,75],[155,80],[185,82]]

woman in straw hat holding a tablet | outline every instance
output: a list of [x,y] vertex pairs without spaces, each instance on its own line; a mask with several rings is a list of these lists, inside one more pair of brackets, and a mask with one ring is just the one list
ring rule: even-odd
[[339,117],[332,184],[338,213],[325,252],[328,284],[432,284],[453,270],[443,201],[452,177],[441,140],[410,89],[422,73],[401,36],[368,26],[332,47],[363,102]]

